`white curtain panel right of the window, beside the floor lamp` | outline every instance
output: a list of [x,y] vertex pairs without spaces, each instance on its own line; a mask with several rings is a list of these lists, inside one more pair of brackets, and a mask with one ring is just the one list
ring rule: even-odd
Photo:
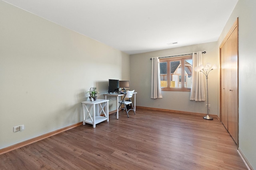
[[203,64],[202,51],[198,51],[196,54],[193,53],[192,60],[193,71],[190,100],[205,101],[204,74],[202,72],[194,71],[196,66]]

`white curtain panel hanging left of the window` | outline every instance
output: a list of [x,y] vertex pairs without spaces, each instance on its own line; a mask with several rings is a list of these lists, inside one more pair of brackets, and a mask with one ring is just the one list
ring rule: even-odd
[[152,58],[151,71],[151,97],[152,99],[163,98],[160,79],[160,61],[158,57]]

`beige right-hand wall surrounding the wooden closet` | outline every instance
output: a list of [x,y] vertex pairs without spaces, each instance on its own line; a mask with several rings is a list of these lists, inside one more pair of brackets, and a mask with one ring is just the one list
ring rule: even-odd
[[218,46],[238,18],[239,149],[256,169],[256,1],[239,0],[218,40]]

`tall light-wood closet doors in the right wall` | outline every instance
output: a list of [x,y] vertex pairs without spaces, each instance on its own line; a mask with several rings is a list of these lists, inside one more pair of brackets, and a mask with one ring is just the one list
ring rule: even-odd
[[238,144],[238,20],[220,46],[221,121]]

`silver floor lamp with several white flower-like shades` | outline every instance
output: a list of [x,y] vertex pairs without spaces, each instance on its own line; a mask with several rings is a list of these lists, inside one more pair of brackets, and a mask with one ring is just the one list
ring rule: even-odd
[[207,115],[204,116],[204,119],[207,119],[207,120],[213,120],[213,117],[209,116],[209,98],[208,98],[208,74],[211,70],[214,70],[217,68],[216,64],[214,64],[212,67],[211,67],[211,63],[207,63],[206,66],[204,66],[203,64],[201,64],[200,66],[196,66],[194,68],[194,70],[196,72],[202,72],[204,73],[204,75],[206,76],[206,91],[207,91]]

